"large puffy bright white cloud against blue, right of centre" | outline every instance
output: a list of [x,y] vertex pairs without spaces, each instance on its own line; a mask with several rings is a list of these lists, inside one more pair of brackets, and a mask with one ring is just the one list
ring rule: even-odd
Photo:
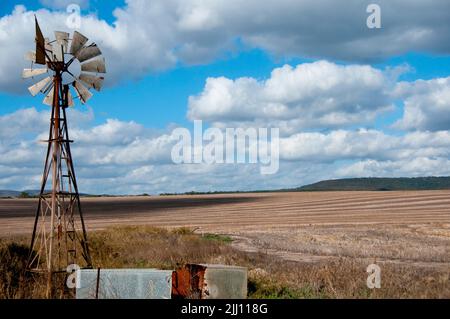
[[[392,110],[390,72],[327,61],[285,65],[267,80],[208,78],[189,98],[188,118],[218,126],[254,123],[285,132],[367,124]],[[226,124],[225,124],[226,123]]]

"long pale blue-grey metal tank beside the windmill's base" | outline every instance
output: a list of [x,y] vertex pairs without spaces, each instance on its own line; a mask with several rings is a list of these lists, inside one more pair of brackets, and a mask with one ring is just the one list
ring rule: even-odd
[[[77,299],[95,299],[98,270],[77,271]],[[99,299],[170,299],[172,271],[158,269],[101,269]]]

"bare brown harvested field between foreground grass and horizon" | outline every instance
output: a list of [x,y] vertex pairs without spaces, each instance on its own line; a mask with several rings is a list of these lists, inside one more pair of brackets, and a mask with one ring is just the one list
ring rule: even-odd
[[[0,199],[0,237],[30,234],[37,201]],[[353,257],[450,269],[450,191],[82,198],[88,230],[192,227],[287,260]]]

